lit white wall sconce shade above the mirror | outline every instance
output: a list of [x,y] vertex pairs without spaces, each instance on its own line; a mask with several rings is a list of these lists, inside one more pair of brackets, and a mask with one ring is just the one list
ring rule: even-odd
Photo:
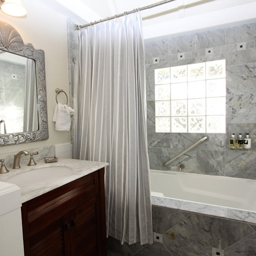
[[22,17],[27,14],[26,9],[23,7],[20,0],[1,0],[3,2],[1,6],[2,12],[5,14],[15,16],[15,17]]

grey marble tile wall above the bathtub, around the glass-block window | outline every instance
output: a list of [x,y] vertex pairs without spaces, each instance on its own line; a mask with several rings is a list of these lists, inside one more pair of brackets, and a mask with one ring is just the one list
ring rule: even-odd
[[[218,59],[226,59],[226,134],[207,134],[209,141],[164,167],[205,134],[155,132],[154,70]],[[151,169],[178,170],[183,163],[187,173],[256,179],[256,23],[145,41],[145,64]],[[249,133],[251,150],[230,150],[232,133]]]

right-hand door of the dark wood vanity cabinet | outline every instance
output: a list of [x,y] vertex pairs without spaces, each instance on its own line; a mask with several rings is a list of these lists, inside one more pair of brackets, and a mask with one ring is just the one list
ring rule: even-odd
[[98,205],[99,197],[96,196],[70,213],[72,255],[101,256]]

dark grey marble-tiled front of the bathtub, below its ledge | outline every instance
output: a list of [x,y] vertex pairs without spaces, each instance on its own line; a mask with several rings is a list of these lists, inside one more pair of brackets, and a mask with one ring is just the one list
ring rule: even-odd
[[121,245],[108,238],[108,255],[210,256],[219,249],[226,256],[256,255],[255,225],[158,206],[152,214],[153,231],[163,243]]

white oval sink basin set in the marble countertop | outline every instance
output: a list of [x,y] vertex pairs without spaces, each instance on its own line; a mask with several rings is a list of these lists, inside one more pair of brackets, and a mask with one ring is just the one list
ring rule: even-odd
[[71,172],[71,170],[71,168],[65,166],[51,166],[32,169],[28,170],[25,173],[16,174],[11,178],[7,179],[5,182],[12,183],[17,186],[35,184],[66,176]]

